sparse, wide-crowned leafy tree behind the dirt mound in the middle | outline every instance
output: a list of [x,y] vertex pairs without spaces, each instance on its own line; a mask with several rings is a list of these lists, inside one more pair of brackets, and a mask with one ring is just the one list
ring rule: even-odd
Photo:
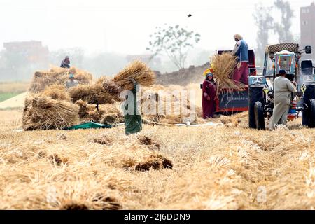
[[146,50],[151,50],[153,57],[164,52],[178,69],[184,68],[189,48],[200,41],[200,34],[187,31],[179,25],[172,27],[165,24],[164,27],[156,27],[155,33],[150,37],[152,40]]

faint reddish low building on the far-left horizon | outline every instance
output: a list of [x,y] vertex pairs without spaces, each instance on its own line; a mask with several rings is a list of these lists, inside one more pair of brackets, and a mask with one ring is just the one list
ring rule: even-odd
[[41,41],[22,41],[3,43],[3,48],[10,54],[21,55],[29,63],[48,64],[49,50]]

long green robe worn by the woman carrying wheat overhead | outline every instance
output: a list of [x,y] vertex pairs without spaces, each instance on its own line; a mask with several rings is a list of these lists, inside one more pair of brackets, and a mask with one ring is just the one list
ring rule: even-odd
[[[137,105],[137,84],[134,84],[134,89],[132,90],[133,99],[126,99],[125,105],[125,133],[134,134],[142,130],[142,118],[138,110]],[[134,104],[134,110],[132,114],[128,113],[128,105]]]

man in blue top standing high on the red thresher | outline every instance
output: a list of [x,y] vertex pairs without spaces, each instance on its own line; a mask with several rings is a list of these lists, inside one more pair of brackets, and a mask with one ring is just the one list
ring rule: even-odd
[[248,45],[240,34],[235,34],[234,38],[237,43],[232,55],[237,57],[237,68],[232,78],[237,82],[241,81],[241,83],[248,85]]

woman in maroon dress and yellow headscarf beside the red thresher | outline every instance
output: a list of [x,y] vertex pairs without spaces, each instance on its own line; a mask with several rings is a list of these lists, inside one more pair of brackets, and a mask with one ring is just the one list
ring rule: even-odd
[[214,75],[210,69],[204,71],[206,78],[202,83],[202,117],[204,119],[213,118],[216,110],[216,84],[214,83]]

